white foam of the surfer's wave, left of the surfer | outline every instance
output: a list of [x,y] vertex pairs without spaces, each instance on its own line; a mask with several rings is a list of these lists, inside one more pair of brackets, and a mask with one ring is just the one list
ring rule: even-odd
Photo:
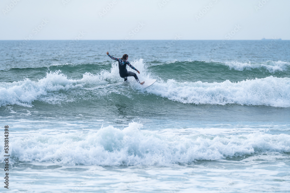
[[[61,71],[46,73],[46,77],[32,81],[25,78],[18,82],[1,82],[0,83],[0,106],[7,104],[17,104],[31,107],[31,103],[40,100],[53,91],[61,91],[75,88],[88,87],[93,85],[107,84],[102,75],[93,75],[84,73],[83,78],[79,80],[68,79]],[[55,98],[58,96],[55,95]],[[63,97],[63,96],[61,96]],[[49,100],[54,100],[50,98]]]

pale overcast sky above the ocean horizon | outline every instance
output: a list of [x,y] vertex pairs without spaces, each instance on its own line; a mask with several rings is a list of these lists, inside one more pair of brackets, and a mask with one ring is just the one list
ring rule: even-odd
[[290,40],[289,0],[1,0],[1,40]]

